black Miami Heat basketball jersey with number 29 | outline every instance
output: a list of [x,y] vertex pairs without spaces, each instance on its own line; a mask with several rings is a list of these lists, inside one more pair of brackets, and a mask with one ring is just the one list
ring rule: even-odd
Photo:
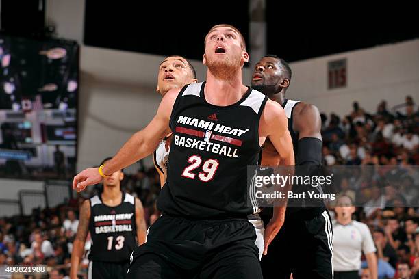
[[186,85],[173,105],[168,176],[157,207],[196,219],[246,217],[259,208],[247,166],[257,165],[267,98],[249,88],[225,107],[205,101],[205,82]]

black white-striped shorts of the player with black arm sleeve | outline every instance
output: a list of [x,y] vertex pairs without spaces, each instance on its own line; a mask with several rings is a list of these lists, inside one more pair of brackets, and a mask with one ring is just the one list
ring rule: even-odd
[[266,279],[289,279],[291,273],[294,279],[332,279],[332,254],[333,231],[327,211],[308,220],[286,217],[268,254],[262,256],[262,272]]

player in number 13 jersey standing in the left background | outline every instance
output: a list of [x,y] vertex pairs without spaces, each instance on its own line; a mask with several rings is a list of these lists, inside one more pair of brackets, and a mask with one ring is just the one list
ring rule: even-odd
[[[103,163],[111,158],[103,160]],[[103,192],[85,200],[81,205],[79,227],[71,254],[72,279],[77,278],[84,243],[90,232],[92,248],[88,278],[125,278],[129,255],[145,242],[144,210],[138,198],[120,189],[124,178],[117,170],[103,180]]]

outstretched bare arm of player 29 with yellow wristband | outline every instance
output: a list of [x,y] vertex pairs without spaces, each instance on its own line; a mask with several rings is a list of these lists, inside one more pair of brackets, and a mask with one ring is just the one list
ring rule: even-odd
[[[169,120],[173,104],[180,92],[176,88],[167,92],[162,98],[157,114],[153,120],[141,131],[135,133],[118,153],[106,163],[102,169],[103,174],[110,175],[116,170],[127,167],[136,161],[148,156],[157,148],[157,145],[170,133]],[[98,168],[88,168],[74,177],[73,189],[83,191],[88,185],[94,185],[102,181]]]

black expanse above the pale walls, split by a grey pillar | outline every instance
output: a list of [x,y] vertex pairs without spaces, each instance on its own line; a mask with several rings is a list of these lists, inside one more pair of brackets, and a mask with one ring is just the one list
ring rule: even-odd
[[[349,5],[350,4],[350,5]],[[323,6],[266,1],[267,50],[289,62],[419,38],[416,9],[405,3]],[[242,31],[249,45],[249,0],[154,1],[145,5],[86,0],[84,43],[96,47],[202,59],[217,23]]]

